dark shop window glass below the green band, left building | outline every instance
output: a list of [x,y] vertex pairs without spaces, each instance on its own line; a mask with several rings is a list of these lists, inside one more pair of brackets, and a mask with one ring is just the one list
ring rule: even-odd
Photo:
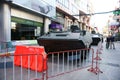
[[11,40],[34,40],[40,36],[40,27],[12,22]]

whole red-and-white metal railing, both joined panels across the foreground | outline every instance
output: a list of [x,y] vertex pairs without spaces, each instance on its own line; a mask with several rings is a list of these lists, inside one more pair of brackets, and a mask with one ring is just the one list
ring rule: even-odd
[[88,67],[93,70],[95,67],[95,55],[92,48],[47,54],[43,52],[44,49],[41,49],[42,52],[35,49],[38,47],[27,48],[26,50],[18,49],[20,52],[16,49],[14,53],[6,51],[4,54],[0,54],[0,80],[48,80]]

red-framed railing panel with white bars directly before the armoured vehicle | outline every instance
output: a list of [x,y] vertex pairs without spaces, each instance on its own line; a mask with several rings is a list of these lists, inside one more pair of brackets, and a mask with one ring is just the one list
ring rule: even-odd
[[48,53],[48,78],[93,66],[93,49]]

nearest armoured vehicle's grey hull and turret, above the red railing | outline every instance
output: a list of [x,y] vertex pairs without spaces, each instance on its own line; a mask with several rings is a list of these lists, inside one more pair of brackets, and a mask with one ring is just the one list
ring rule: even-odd
[[91,33],[81,31],[78,26],[71,25],[67,31],[51,31],[37,38],[40,46],[45,47],[46,52],[58,52],[90,48],[92,43]]

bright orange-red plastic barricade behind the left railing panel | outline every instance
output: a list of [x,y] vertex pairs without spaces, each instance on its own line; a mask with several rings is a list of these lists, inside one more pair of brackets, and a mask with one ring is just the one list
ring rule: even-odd
[[[47,54],[45,53],[44,47],[42,46],[16,46],[14,64],[17,66],[22,66],[24,68],[30,68],[36,71],[44,71],[47,69]],[[29,55],[27,55],[29,54]],[[35,55],[34,55],[35,54]],[[28,59],[29,56],[29,59]],[[22,59],[22,60],[21,60]],[[28,60],[30,60],[28,62]],[[21,64],[22,61],[22,64]]]

